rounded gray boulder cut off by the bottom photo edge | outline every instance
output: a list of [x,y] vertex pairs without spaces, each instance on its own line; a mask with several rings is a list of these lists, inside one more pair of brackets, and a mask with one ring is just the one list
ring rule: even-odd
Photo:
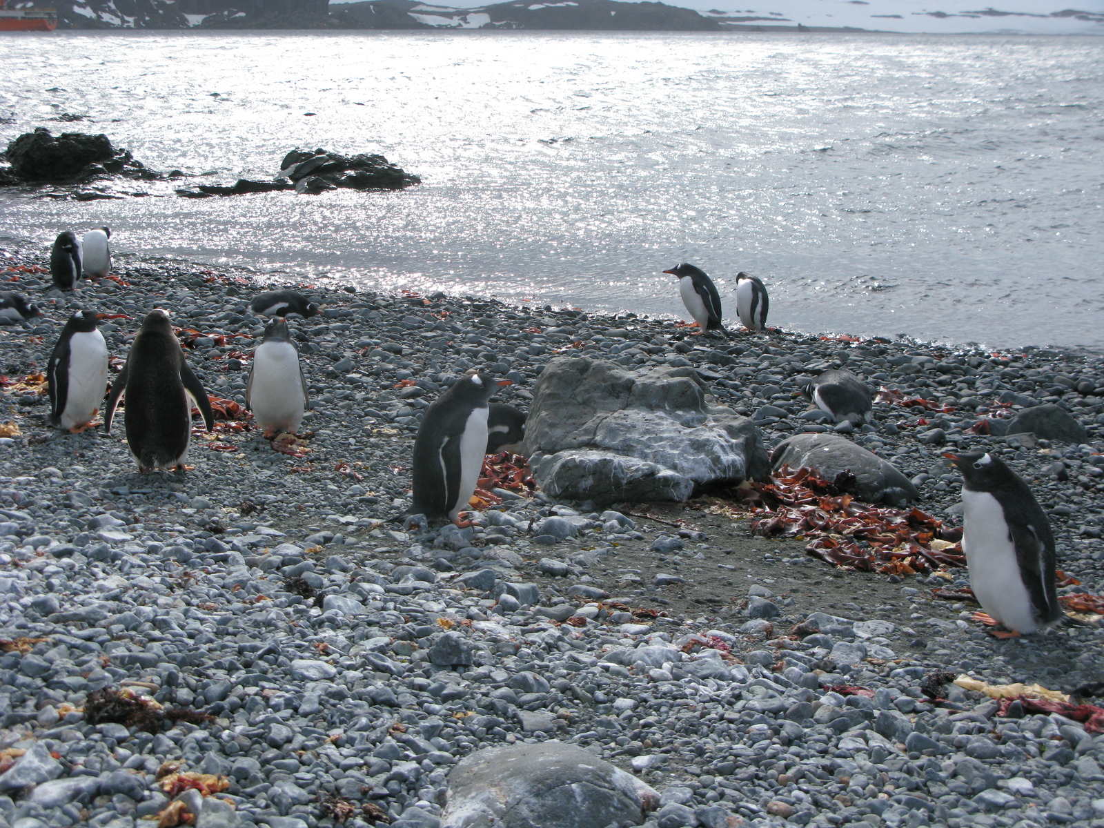
[[562,742],[487,747],[448,775],[442,828],[639,825],[659,794],[590,751]]

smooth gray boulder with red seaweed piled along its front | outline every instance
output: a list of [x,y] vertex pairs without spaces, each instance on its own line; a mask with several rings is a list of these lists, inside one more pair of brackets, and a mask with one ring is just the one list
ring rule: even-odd
[[901,506],[917,500],[920,491],[898,468],[838,434],[798,434],[775,446],[771,469],[810,468],[826,480],[841,471],[854,475],[856,493],[870,503]]

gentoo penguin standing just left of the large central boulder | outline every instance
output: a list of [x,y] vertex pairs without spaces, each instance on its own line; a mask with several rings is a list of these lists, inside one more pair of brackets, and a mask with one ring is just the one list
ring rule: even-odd
[[425,410],[414,438],[413,503],[407,514],[457,520],[479,481],[487,449],[487,402],[498,385],[486,374],[468,374]]

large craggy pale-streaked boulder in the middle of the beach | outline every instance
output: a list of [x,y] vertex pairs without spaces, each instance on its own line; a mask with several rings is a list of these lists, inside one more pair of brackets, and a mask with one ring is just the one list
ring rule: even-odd
[[541,373],[524,450],[549,495],[598,503],[686,500],[769,468],[758,427],[711,405],[693,369],[637,373],[586,357],[553,360]]

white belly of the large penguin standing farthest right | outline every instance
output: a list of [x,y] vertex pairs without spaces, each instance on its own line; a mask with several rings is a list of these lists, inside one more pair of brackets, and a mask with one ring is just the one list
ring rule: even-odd
[[977,602],[1009,629],[1033,633],[1039,625],[1020,575],[1004,509],[987,491],[963,489],[963,503],[966,507],[963,551]]

